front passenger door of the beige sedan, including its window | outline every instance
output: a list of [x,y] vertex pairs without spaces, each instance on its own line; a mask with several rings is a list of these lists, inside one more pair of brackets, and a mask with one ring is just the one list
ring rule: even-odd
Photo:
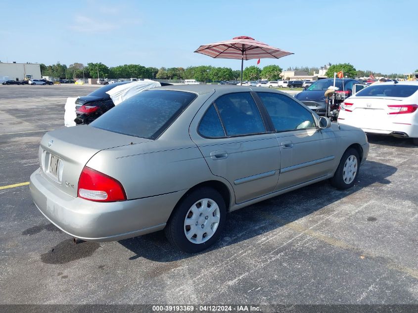
[[280,148],[280,177],[275,191],[331,173],[336,145],[333,131],[319,129],[312,112],[288,95],[257,95],[273,122]]

